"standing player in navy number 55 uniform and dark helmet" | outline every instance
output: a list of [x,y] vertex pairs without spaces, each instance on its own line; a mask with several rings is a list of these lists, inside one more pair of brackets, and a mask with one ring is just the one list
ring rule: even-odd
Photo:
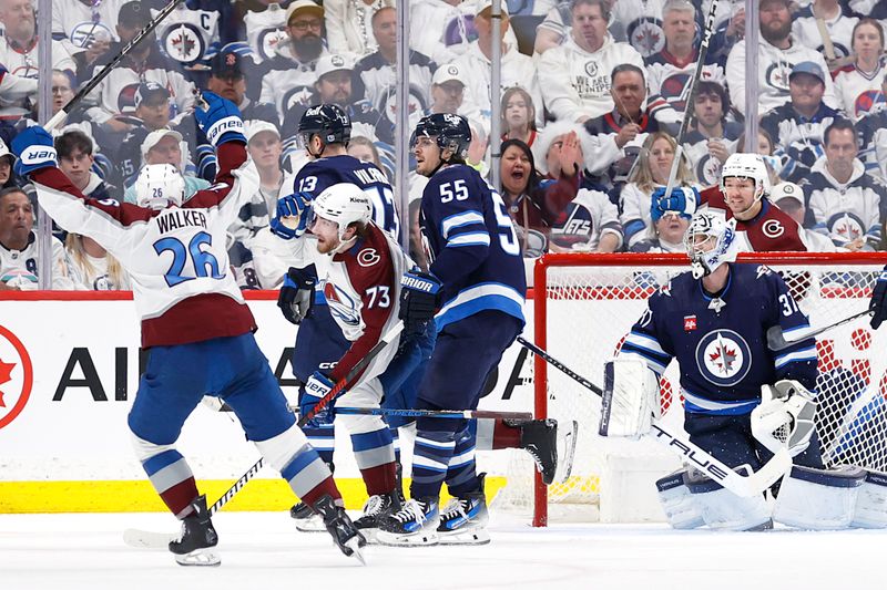
[[[524,323],[520,245],[502,198],[465,164],[470,141],[466,118],[451,114],[424,117],[412,138],[417,172],[429,178],[419,225],[430,267],[404,276],[399,315],[417,330],[440,308],[419,408],[476,408],[488,373]],[[455,498],[440,510],[445,480]],[[379,524],[381,544],[489,541],[483,477],[466,421],[417,421],[410,496]]]

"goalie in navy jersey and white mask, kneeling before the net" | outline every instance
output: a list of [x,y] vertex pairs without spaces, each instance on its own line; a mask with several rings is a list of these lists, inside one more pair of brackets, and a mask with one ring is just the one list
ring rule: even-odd
[[[602,434],[639,436],[659,410],[659,377],[681,370],[690,441],[737,472],[757,472],[787,446],[794,467],[775,506],[763,494],[738,497],[689,468],[657,482],[676,528],[756,530],[773,520],[801,528],[843,528],[853,519],[863,469],[827,470],[813,416],[816,345],[783,279],[758,265],[736,263],[735,221],[699,211],[685,235],[692,272],[654,293],[606,366]],[[767,332],[781,330],[774,351]],[[608,400],[609,397],[609,400]],[[609,402],[609,403],[606,403]]]

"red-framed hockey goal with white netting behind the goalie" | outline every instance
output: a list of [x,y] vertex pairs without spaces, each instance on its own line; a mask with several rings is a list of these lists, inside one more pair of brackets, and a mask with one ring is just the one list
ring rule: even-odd
[[[747,253],[738,262],[777,271],[818,328],[867,308],[887,253]],[[687,270],[683,255],[548,255],[534,269],[536,343],[602,385],[604,362],[619,350],[645,300]],[[873,331],[864,315],[820,334],[817,352],[817,425],[826,464],[887,469],[887,327]],[[579,423],[575,462],[564,483],[547,488],[531,475],[530,462],[516,455],[502,503],[532,510],[534,526],[548,522],[549,510],[565,514],[567,520],[656,519],[650,510],[661,517],[653,482],[680,462],[653,441],[598,436],[600,398],[543,360],[532,362],[537,416]],[[682,424],[679,381],[673,361],[660,383],[661,405],[663,420]],[[632,511],[634,501],[648,508]]]

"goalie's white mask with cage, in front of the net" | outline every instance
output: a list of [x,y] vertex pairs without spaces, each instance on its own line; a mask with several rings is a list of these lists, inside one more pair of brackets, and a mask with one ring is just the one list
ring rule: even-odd
[[[699,240],[697,236],[704,236]],[[727,221],[723,215],[699,210],[690,220],[684,234],[684,246],[690,257],[693,278],[708,276],[724,262],[736,260],[736,220]]]

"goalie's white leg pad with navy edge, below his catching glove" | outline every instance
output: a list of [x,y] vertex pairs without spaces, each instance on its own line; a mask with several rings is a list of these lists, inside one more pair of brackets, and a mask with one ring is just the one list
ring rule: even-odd
[[783,478],[773,519],[808,530],[847,528],[865,477],[865,469],[859,467],[814,469],[795,465]]

